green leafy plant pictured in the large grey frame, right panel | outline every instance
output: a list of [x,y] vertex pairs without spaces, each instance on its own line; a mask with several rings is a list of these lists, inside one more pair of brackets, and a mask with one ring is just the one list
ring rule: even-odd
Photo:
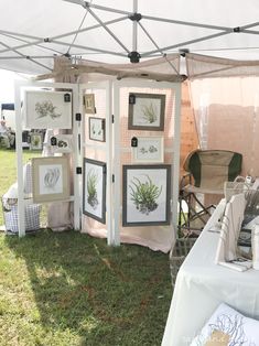
[[134,176],[129,188],[136,208],[142,214],[149,215],[159,206],[157,199],[162,192],[162,186],[159,187],[153,184],[148,174],[144,174],[144,176],[147,180],[143,183]]

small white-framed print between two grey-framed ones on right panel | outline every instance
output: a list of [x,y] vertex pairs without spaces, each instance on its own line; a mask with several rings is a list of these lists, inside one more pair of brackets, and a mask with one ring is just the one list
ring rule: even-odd
[[132,148],[134,163],[163,163],[163,137],[138,137],[137,147]]

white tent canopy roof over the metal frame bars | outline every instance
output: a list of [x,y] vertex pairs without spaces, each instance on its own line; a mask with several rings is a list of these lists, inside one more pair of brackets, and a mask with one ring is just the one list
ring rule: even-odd
[[257,0],[0,0],[0,68],[34,75],[64,55],[126,64],[185,51],[248,61],[259,53]]

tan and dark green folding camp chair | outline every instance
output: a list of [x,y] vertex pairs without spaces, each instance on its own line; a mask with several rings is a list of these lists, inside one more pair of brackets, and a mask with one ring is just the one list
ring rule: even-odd
[[[224,195],[224,183],[233,182],[241,172],[242,155],[228,150],[195,150],[184,162],[180,183],[179,230],[198,235],[215,205],[205,195]],[[184,210],[185,205],[185,210]]]

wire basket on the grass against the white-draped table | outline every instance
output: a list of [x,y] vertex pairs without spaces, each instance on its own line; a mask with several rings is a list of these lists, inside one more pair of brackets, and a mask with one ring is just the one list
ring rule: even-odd
[[172,284],[174,286],[176,275],[179,272],[180,267],[182,266],[185,257],[188,255],[190,250],[192,249],[194,242],[197,238],[179,238],[174,247],[170,251],[170,270],[171,270],[171,278]]

